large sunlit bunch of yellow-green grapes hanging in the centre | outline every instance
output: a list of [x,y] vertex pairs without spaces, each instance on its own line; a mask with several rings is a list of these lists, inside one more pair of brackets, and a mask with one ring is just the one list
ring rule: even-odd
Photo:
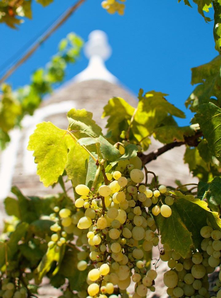
[[[91,297],[106,298],[114,292],[115,286],[124,291],[131,277],[135,282],[134,298],[146,296],[148,289],[155,290],[157,272],[147,271],[144,252],[152,250],[159,242],[153,208],[161,205],[157,214],[169,217],[171,209],[163,203],[162,197],[170,205],[173,198],[165,186],[152,191],[140,184],[144,180],[141,168],[139,157],[119,161],[115,171],[106,173],[108,185],[93,191],[82,184],[75,188],[80,195],[75,206],[84,208],[77,227],[87,232],[90,249],[89,262],[85,251],[78,254],[77,268],[83,271],[90,267],[87,292]],[[162,206],[168,209],[165,211]]]

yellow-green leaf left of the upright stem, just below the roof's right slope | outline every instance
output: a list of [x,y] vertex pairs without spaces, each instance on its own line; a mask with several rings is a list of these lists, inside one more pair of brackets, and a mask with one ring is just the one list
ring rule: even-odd
[[128,129],[134,110],[135,108],[121,97],[111,98],[104,107],[102,118],[109,116],[106,127],[108,132],[112,132],[111,139],[114,142],[118,142],[121,132]]

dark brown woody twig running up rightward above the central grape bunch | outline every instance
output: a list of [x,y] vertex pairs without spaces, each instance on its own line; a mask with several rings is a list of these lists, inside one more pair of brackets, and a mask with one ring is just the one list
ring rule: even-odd
[[200,143],[200,140],[198,140],[200,137],[203,136],[203,133],[201,131],[196,132],[195,135],[192,135],[190,137],[184,137],[184,141],[182,142],[173,142],[173,143],[169,143],[164,145],[163,147],[160,147],[148,154],[143,154],[140,153],[139,157],[142,160],[143,164],[149,163],[154,159],[157,159],[157,157],[163,153],[165,153],[166,151],[169,151],[170,149],[173,149],[174,147],[179,147],[182,146],[184,144],[187,144],[191,147],[197,147],[197,145]]

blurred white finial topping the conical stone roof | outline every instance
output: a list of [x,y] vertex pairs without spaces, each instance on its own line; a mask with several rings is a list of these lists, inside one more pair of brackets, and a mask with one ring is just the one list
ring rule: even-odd
[[94,30],[88,36],[84,46],[84,54],[89,59],[86,69],[74,77],[75,81],[105,80],[116,83],[117,78],[110,73],[104,61],[111,56],[111,47],[108,44],[107,34],[101,30]]

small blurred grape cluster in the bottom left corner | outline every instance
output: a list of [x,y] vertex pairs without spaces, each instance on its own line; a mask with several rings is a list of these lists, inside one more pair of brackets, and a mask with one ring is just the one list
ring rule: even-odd
[[2,298],[26,298],[27,290],[20,287],[15,280],[1,278],[0,297]]

